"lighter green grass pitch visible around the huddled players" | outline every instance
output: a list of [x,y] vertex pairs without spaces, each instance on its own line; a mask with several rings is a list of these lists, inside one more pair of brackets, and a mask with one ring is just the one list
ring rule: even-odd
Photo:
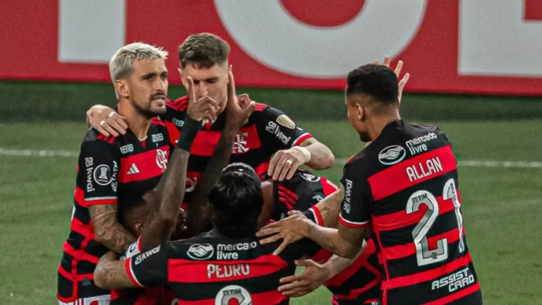
[[[347,122],[298,123],[332,148],[337,160],[363,147]],[[542,167],[513,163],[542,162],[542,121],[436,123],[459,160],[498,161],[459,168],[467,242],[485,303],[542,304]],[[76,154],[85,126],[0,124],[0,133],[0,304],[56,304],[56,268],[68,234],[76,157],[18,150]],[[341,169],[337,164],[319,174],[337,182]],[[291,303],[330,301],[327,291],[319,289]]]

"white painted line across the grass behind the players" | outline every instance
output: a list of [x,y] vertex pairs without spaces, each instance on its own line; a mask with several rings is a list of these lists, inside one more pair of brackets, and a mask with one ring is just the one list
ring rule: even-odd
[[[1,156],[15,157],[78,157],[79,152],[73,150],[20,150],[0,148]],[[338,165],[344,165],[347,159],[337,159]],[[507,167],[507,168],[542,168],[542,162],[534,161],[492,161],[492,160],[459,160],[460,167]]]

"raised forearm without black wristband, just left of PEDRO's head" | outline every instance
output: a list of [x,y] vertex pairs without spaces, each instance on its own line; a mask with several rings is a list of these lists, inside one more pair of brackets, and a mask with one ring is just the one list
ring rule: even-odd
[[207,195],[217,181],[222,169],[229,163],[231,148],[234,145],[234,138],[237,128],[226,127],[218,141],[215,151],[200,177],[198,185],[195,186],[192,202],[188,205],[188,218],[186,219],[187,236],[192,237],[202,233],[210,222],[209,203]]

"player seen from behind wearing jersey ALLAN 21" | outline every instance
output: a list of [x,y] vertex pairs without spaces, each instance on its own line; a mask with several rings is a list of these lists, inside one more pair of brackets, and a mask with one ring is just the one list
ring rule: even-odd
[[308,237],[339,256],[353,257],[367,231],[383,263],[383,304],[482,304],[466,244],[457,162],[437,126],[399,116],[398,84],[386,66],[367,64],[347,78],[348,118],[364,150],[344,166],[342,191],[320,207],[340,207],[337,229],[301,213],[258,233],[266,242]]

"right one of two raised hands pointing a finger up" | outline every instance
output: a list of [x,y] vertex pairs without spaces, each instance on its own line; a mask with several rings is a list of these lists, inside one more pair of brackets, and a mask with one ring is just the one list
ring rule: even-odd
[[255,102],[248,95],[236,95],[234,73],[228,72],[228,102],[226,104],[226,124],[239,130],[254,111]]

